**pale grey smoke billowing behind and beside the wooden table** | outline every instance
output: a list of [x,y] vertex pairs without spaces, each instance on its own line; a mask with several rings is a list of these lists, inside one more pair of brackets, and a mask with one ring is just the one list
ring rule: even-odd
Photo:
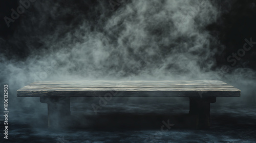
[[221,12],[199,0],[122,1],[114,11],[109,2],[37,0],[1,39],[1,47],[26,51],[25,58],[1,53],[1,83],[28,107],[39,101],[16,98],[16,90],[44,80],[221,79],[251,99],[254,71],[216,68],[224,46],[206,26]]

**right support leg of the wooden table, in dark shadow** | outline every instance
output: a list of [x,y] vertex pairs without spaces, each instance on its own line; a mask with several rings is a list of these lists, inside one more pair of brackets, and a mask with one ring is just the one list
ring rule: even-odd
[[210,103],[215,103],[216,97],[189,97],[189,114],[196,116],[196,127],[210,127]]

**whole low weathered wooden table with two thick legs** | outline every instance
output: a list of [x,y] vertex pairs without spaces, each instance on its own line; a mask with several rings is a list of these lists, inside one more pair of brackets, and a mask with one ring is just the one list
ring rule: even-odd
[[86,80],[40,81],[19,90],[17,97],[40,97],[48,104],[48,127],[65,126],[70,97],[188,97],[197,127],[209,128],[210,103],[216,97],[240,97],[241,91],[220,80]]

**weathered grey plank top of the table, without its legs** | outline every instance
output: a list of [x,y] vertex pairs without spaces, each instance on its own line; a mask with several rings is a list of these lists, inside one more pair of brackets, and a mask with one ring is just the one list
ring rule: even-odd
[[241,91],[220,80],[38,81],[17,97],[240,97]]

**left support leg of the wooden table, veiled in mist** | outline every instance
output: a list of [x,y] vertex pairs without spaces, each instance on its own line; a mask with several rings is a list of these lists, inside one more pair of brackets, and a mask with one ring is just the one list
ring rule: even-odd
[[40,97],[41,103],[48,104],[48,128],[61,129],[68,125],[70,117],[69,97]]

